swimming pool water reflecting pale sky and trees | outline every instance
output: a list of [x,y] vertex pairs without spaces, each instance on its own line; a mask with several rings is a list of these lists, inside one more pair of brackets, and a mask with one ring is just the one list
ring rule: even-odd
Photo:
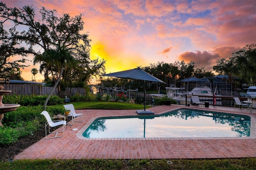
[[86,138],[244,137],[250,117],[180,109],[161,116],[96,119],[82,134]]

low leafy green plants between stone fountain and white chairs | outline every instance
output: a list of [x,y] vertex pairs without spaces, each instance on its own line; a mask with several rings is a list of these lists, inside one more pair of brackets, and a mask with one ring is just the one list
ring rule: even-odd
[[[63,106],[48,106],[50,117],[53,115],[63,114]],[[33,135],[39,128],[43,128],[46,119],[40,113],[43,106],[27,106],[18,107],[16,111],[4,113],[2,123],[4,127],[0,128],[0,145],[9,145],[16,142],[19,138]]]

